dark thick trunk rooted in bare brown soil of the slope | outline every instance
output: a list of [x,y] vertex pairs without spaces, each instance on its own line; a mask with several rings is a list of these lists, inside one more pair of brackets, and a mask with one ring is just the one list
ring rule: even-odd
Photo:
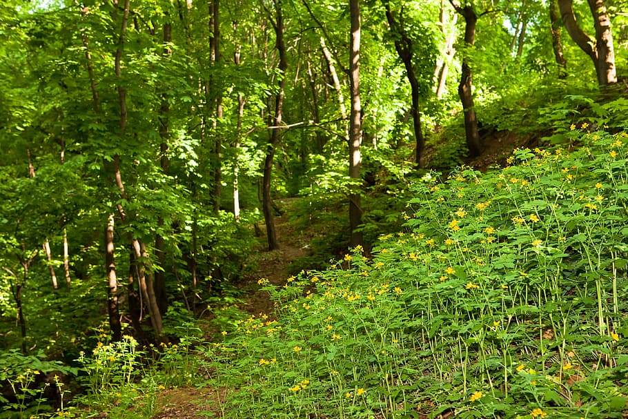
[[469,66],[469,50],[475,44],[475,25],[478,17],[473,11],[473,6],[467,4],[462,7],[460,1],[449,0],[456,12],[464,17],[464,50],[462,52],[462,74],[458,85],[458,95],[462,102],[464,113],[464,132],[467,137],[467,147],[470,157],[478,157],[482,154],[482,142],[478,132],[478,118],[475,115],[475,104],[473,103],[473,83],[471,66]]

